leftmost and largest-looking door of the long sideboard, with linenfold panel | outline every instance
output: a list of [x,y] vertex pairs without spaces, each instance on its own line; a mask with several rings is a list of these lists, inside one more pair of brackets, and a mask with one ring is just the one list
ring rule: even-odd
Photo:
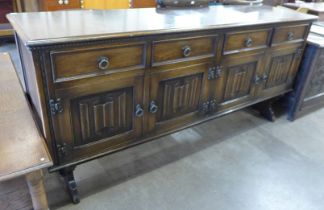
[[142,133],[142,95],[142,76],[93,78],[84,85],[57,89],[52,119],[60,161],[132,144]]

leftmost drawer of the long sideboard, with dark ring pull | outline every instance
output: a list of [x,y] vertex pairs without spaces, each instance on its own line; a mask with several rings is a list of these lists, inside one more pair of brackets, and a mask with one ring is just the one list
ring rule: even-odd
[[145,67],[145,43],[52,51],[54,82],[93,77]]

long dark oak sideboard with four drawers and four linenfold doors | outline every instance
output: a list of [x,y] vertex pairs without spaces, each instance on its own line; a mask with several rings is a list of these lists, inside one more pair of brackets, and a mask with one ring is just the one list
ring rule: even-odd
[[291,91],[315,16],[270,6],[10,14],[73,201],[76,165]]

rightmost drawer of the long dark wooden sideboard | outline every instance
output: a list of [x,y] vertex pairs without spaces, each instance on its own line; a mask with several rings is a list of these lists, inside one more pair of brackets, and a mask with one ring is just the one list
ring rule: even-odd
[[283,26],[274,31],[272,45],[285,42],[304,41],[309,25]]

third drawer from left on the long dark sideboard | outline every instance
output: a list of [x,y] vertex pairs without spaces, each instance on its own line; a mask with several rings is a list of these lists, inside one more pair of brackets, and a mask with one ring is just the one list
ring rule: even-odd
[[266,48],[269,45],[270,35],[271,29],[227,33],[223,53],[226,55]]

